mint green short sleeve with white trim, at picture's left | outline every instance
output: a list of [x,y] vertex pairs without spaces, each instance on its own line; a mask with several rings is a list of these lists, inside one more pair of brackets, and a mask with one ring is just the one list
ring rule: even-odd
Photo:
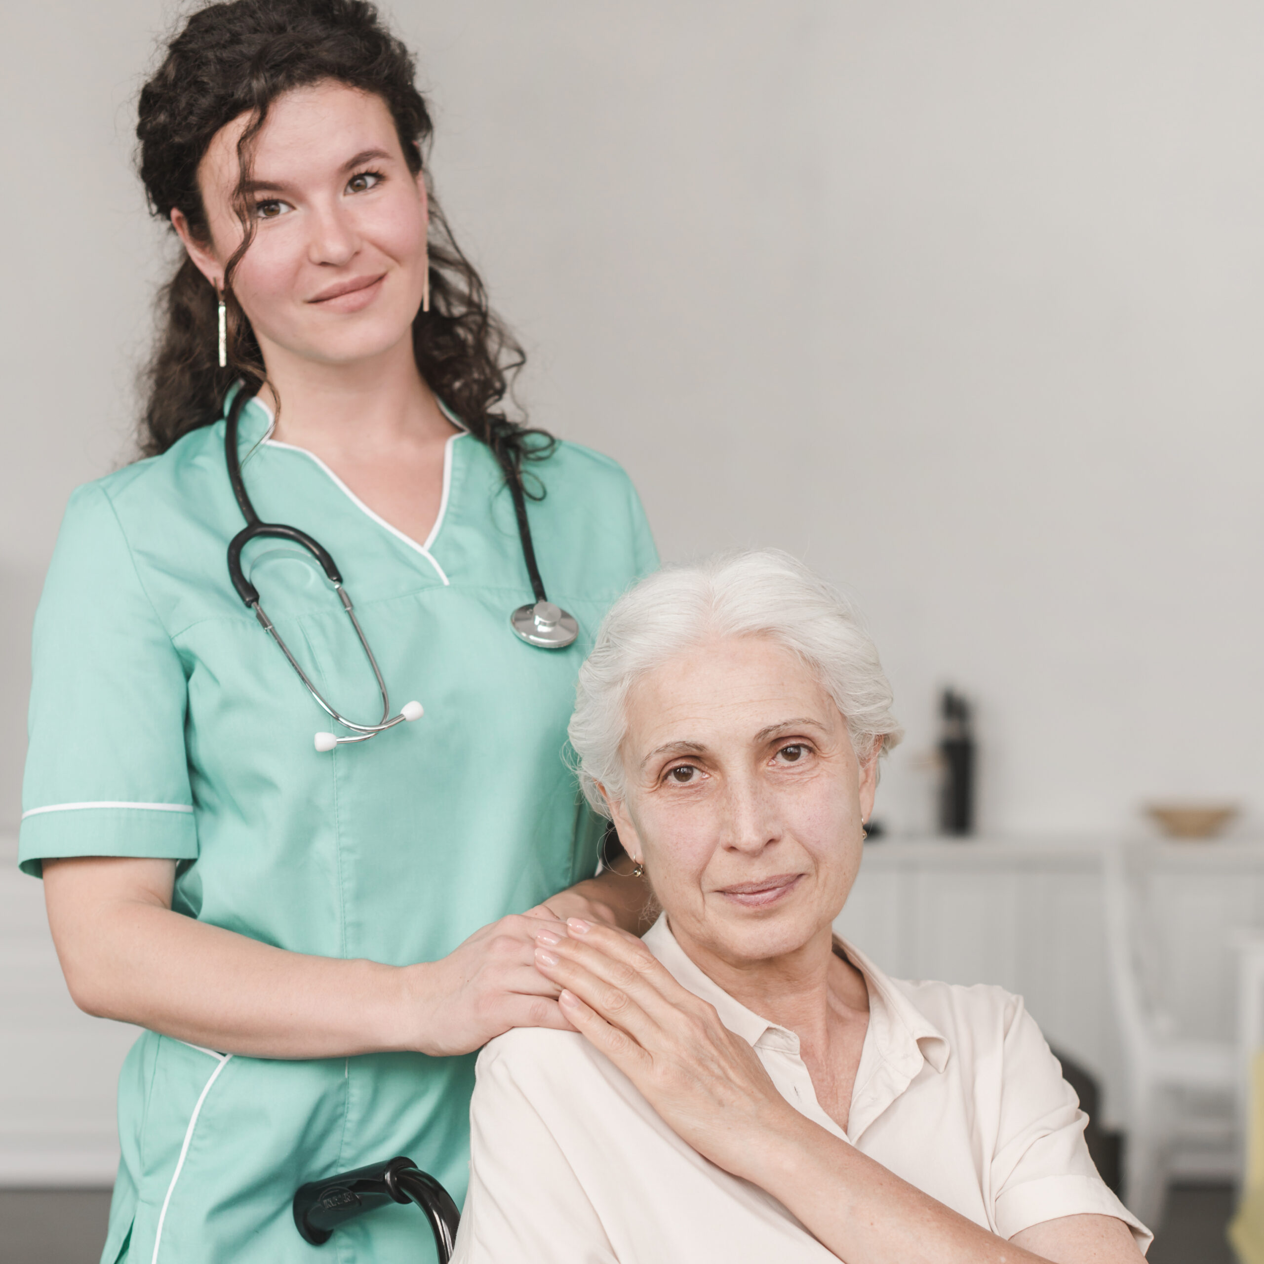
[[193,860],[183,666],[106,490],[71,498],[35,614],[18,858]]

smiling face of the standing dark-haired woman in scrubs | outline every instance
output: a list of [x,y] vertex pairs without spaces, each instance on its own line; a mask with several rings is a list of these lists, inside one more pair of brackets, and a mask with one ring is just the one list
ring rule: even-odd
[[[221,282],[243,238],[233,197],[243,115],[211,142],[198,185],[211,241],[181,236]],[[426,269],[426,191],[380,97],[324,82],[277,97],[253,142],[255,235],[233,292],[269,372],[278,356],[370,360],[411,336]],[[177,230],[182,217],[173,215]]]

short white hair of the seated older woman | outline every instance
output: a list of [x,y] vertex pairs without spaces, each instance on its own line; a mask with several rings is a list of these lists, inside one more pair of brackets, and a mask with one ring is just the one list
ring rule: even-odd
[[722,554],[670,566],[628,589],[609,609],[579,669],[570,744],[580,784],[602,815],[598,785],[623,799],[621,747],[635,681],[708,637],[766,636],[811,669],[847,719],[861,758],[904,736],[877,647],[841,593],[775,549]]

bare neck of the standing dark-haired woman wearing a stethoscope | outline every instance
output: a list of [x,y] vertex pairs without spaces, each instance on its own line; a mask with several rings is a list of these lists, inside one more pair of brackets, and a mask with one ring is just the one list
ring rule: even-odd
[[446,439],[454,430],[426,386],[412,337],[367,360],[329,364],[263,346],[268,382],[259,392],[277,417],[274,437],[336,460]]

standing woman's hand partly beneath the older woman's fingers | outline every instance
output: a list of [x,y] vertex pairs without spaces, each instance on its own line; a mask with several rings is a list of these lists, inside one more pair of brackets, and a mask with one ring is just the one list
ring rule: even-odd
[[475,930],[440,961],[404,968],[407,1043],[431,1057],[473,1053],[516,1026],[573,1031],[557,1005],[560,987],[536,969],[541,920],[564,925],[545,906]]

